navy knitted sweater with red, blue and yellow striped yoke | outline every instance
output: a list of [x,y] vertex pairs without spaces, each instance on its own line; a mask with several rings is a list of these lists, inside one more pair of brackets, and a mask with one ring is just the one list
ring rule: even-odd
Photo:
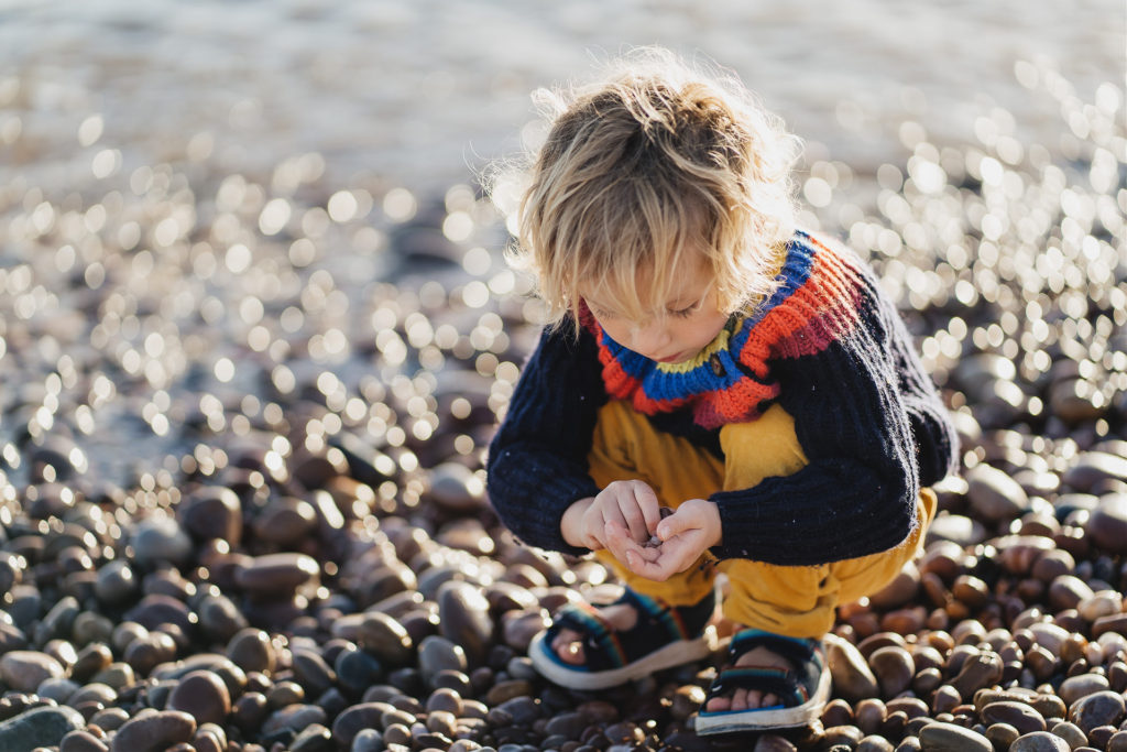
[[722,455],[720,428],[773,404],[809,465],[713,494],[721,558],[824,564],[887,550],[914,524],[921,485],[955,466],[957,440],[904,322],[851,251],[798,232],[775,292],[734,316],[700,354],[657,363],[583,317],[545,330],[489,449],[489,497],[524,542],[582,554],[565,510],[594,496],[586,457],[598,408],[628,400],[655,427]]

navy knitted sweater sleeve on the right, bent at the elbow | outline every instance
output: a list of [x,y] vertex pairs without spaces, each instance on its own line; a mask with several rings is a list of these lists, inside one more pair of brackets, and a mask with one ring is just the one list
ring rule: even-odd
[[[813,317],[771,348],[779,404],[809,463],[710,497],[724,530],[712,551],[721,558],[825,564],[894,548],[916,523],[915,433],[930,427],[916,427],[902,393],[898,312],[858,274],[849,316]],[[929,440],[928,453],[941,441]]]

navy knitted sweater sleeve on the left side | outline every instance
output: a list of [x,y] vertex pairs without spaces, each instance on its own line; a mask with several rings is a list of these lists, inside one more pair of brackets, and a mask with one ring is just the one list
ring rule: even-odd
[[606,401],[597,345],[565,324],[544,330],[517,381],[487,461],[489,499],[523,542],[565,554],[560,520],[571,503],[595,496],[587,471],[598,408]]

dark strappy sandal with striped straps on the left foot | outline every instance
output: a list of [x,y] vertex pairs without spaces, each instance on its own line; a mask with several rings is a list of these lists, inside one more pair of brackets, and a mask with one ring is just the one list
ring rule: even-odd
[[[569,689],[606,689],[699,661],[716,647],[716,629],[707,626],[716,608],[711,592],[693,605],[671,607],[627,587],[614,603],[633,608],[638,614],[633,627],[616,629],[589,603],[561,608],[552,626],[529,645],[536,671]],[[566,663],[552,649],[561,629],[579,632],[584,663]]]

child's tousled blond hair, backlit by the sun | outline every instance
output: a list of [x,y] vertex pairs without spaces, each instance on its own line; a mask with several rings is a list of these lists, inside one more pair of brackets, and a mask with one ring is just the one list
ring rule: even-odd
[[770,294],[795,230],[799,140],[715,67],[644,47],[606,69],[593,83],[534,92],[547,138],[527,167],[490,180],[500,205],[523,176],[508,257],[533,273],[548,324],[570,315],[578,326],[580,285],[632,320],[662,317],[694,253],[725,312]]

